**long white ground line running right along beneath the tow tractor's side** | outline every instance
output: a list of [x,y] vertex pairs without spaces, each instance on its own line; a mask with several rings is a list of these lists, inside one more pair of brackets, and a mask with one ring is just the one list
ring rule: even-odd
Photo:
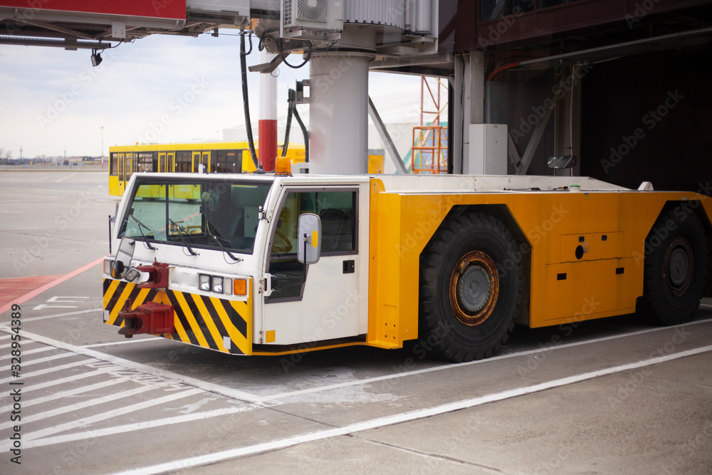
[[364,380],[339,382],[339,383],[336,383],[333,385],[328,385],[328,386],[310,387],[310,388],[307,388],[304,390],[283,392],[283,393],[277,394],[277,395],[264,396],[264,397],[262,397],[262,399],[259,402],[271,402],[271,401],[276,401],[279,399],[284,399],[285,397],[310,394],[313,392],[335,390],[335,389],[339,389],[341,387],[367,385],[372,382],[393,380],[393,379],[396,379],[399,377],[422,375],[423,373],[426,373],[426,372],[449,370],[452,368],[466,367],[469,365],[480,365],[485,362],[506,360],[507,358],[511,358],[511,357],[533,355],[536,353],[543,353],[543,352],[551,351],[551,350],[559,350],[561,348],[572,348],[574,346],[579,346],[579,345],[588,345],[590,343],[600,343],[602,341],[617,340],[618,338],[627,338],[627,337],[636,336],[636,335],[643,335],[644,333],[654,333],[654,332],[660,332],[660,331],[664,331],[664,330],[670,330],[671,328],[684,327],[684,326],[688,326],[688,325],[698,325],[700,323],[710,323],[710,322],[712,322],[712,318],[707,319],[707,320],[698,320],[696,322],[684,323],[682,325],[673,325],[673,326],[661,327],[661,328],[650,328],[649,330],[639,330],[639,331],[635,331],[635,332],[631,332],[631,333],[624,333],[623,335],[613,335],[613,336],[607,336],[607,337],[602,337],[602,338],[595,338],[593,340],[584,340],[584,341],[577,341],[575,343],[566,343],[566,344],[562,344],[562,345],[547,346],[545,348],[536,348],[535,350],[520,351],[518,353],[509,353],[507,355],[498,355],[498,356],[493,356],[491,358],[488,358],[486,360],[476,360],[476,361],[470,361],[470,362],[464,362],[464,363],[448,363],[446,365],[441,365],[441,366],[436,366],[436,367],[428,367],[428,368],[424,368],[422,370],[412,370],[412,371],[408,371],[408,372],[397,372],[397,373],[394,373],[391,375],[370,377],[370,378],[367,378]]

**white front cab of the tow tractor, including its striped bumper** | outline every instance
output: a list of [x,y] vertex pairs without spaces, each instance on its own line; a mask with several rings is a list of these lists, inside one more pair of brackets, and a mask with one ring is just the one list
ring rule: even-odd
[[367,333],[369,179],[135,174],[104,320],[251,355]]

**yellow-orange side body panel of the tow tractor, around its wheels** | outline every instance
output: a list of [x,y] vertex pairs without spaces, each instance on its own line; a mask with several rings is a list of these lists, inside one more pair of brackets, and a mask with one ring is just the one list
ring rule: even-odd
[[712,221],[711,200],[694,193],[419,194],[386,192],[372,179],[367,342],[389,348],[417,337],[419,257],[455,206],[511,213],[531,246],[528,323],[541,327],[634,312],[646,236],[666,202],[683,199],[702,200]]

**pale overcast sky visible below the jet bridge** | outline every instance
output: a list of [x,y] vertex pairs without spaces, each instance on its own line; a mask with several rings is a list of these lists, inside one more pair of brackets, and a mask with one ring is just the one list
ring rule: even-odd
[[[111,145],[222,140],[224,128],[244,125],[235,34],[153,35],[103,52],[97,68],[90,50],[0,46],[0,147],[15,158],[20,147],[23,157],[98,156],[102,126],[104,155]],[[258,60],[255,47],[248,66]],[[278,68],[281,123],[287,89],[308,75],[308,66]],[[248,83],[256,133],[258,73]],[[370,73],[369,87],[384,122],[417,120],[419,76]],[[299,107],[308,119],[308,105]]]

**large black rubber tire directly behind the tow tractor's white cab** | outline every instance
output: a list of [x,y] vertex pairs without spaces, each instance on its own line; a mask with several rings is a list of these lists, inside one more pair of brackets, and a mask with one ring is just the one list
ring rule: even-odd
[[[464,256],[480,251],[496,266],[498,293],[486,307],[488,316],[466,325],[451,303],[451,278]],[[523,293],[523,270],[517,244],[494,216],[467,212],[439,229],[420,259],[419,338],[430,355],[465,362],[490,357],[514,328]],[[459,273],[464,276],[465,273]],[[493,288],[491,284],[491,288]],[[488,293],[489,295],[489,293]]]

